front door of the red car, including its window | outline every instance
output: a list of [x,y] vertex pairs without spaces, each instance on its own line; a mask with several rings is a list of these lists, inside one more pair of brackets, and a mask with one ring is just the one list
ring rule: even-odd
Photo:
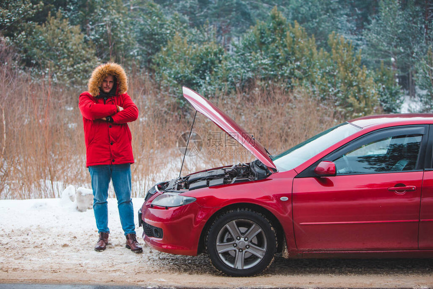
[[337,174],[316,162],[293,183],[295,240],[301,251],[418,249],[427,126],[378,130],[335,150]]

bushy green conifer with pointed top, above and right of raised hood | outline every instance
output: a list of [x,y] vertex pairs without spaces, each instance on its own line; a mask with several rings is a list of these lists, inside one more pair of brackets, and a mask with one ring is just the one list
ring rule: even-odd
[[309,77],[309,68],[317,54],[313,37],[308,37],[298,23],[288,25],[282,14],[274,8],[268,22],[257,23],[236,46],[230,66],[229,79],[241,87],[257,80],[287,81]]

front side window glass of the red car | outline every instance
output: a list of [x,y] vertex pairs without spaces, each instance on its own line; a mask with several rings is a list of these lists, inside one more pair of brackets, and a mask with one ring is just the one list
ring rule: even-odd
[[414,170],[421,140],[421,134],[410,134],[362,144],[333,160],[337,175]]

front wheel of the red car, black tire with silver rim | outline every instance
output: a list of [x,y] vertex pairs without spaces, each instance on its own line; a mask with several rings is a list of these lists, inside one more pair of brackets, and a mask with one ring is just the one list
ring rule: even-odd
[[251,276],[273,261],[276,235],[265,216],[248,209],[228,211],[212,223],[206,248],[213,266],[230,276]]

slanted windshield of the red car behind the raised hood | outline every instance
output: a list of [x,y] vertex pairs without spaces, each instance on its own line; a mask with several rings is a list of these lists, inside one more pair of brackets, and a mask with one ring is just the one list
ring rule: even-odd
[[350,123],[340,124],[274,156],[272,161],[279,171],[291,170],[359,130]]

